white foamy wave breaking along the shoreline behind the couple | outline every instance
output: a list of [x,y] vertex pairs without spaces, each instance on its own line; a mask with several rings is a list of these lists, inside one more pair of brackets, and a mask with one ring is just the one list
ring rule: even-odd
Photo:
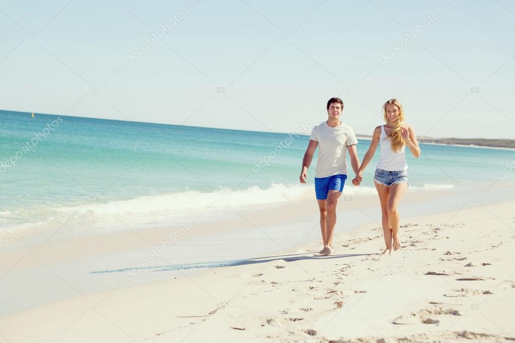
[[[409,191],[452,189],[453,185],[426,184],[410,187]],[[375,195],[375,187],[347,185],[344,196]],[[233,213],[231,208],[252,208],[314,201],[314,185],[272,184],[266,189],[258,186],[242,190],[218,189],[212,192],[186,191],[163,195],[146,195],[129,200],[90,201],[74,205],[40,206],[0,211],[0,227],[13,230],[66,227],[97,232],[112,231],[128,225],[135,228],[178,225],[192,216],[203,213],[204,219],[220,218]],[[209,211],[208,211],[209,209]],[[226,211],[227,214],[224,214]],[[211,215],[211,216],[210,216]]]

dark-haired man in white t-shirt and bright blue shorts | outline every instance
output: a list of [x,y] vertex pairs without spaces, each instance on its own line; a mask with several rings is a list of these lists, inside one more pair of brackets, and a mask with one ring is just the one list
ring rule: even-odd
[[354,173],[358,175],[359,159],[356,151],[357,139],[349,125],[340,120],[344,102],[331,98],[327,102],[328,119],[316,125],[311,132],[310,142],[302,160],[300,182],[306,183],[307,168],[318,146],[318,160],[315,170],[315,192],[320,208],[320,229],[323,249],[320,255],[330,255],[333,249],[333,233],[336,224],[336,204],[347,179],[347,150]]

